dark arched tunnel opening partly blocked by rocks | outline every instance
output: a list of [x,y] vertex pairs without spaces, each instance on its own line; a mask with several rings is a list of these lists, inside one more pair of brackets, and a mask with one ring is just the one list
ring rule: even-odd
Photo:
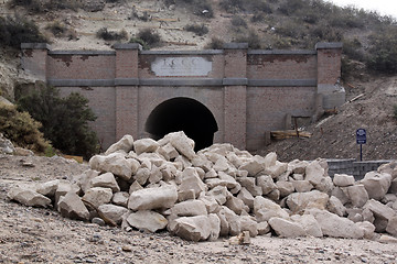
[[154,140],[170,132],[183,131],[194,140],[194,151],[200,151],[213,144],[218,127],[214,116],[203,103],[179,97],[157,106],[150,113],[144,130]]

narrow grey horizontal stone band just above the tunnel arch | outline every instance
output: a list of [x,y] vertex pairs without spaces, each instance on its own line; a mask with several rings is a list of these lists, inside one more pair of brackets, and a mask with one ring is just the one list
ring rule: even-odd
[[76,87],[76,86],[316,87],[318,85],[315,79],[247,79],[247,78],[49,79],[47,84],[56,87]]

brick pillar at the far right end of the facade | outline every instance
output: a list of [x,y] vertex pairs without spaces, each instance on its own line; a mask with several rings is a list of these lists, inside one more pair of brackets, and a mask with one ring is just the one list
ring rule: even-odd
[[318,94],[323,96],[325,110],[340,107],[345,101],[345,90],[340,85],[342,43],[318,43]]

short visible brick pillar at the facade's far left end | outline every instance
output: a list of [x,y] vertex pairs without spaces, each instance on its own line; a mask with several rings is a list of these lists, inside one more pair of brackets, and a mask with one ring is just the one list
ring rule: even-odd
[[51,46],[46,43],[22,43],[22,68],[40,80],[46,81],[47,55]]

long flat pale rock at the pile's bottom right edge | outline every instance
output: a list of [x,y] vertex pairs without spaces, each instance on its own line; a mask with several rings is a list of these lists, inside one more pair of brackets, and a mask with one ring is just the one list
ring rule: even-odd
[[363,239],[364,231],[347,218],[341,218],[326,210],[307,209],[305,215],[312,215],[321,227],[324,235],[344,239]]

